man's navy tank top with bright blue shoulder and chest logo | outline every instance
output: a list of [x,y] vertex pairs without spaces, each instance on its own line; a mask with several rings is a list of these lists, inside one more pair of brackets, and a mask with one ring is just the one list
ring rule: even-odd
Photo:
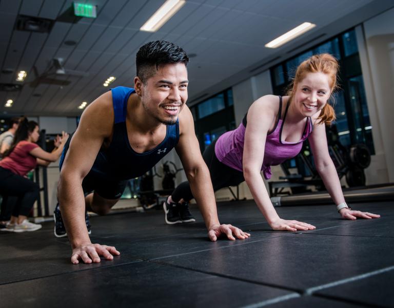
[[128,180],[140,177],[159,162],[179,141],[179,122],[167,125],[166,137],[155,148],[135,152],[129,143],[126,128],[127,101],[134,89],[116,87],[111,89],[115,115],[113,136],[107,149],[97,154],[91,172],[112,180]]

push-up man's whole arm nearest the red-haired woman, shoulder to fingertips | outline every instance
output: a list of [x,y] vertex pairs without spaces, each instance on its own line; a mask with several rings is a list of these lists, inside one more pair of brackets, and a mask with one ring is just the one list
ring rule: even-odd
[[179,124],[180,140],[176,145],[176,152],[181,158],[191,192],[200,207],[210,240],[215,241],[221,233],[226,234],[230,240],[235,240],[232,234],[239,239],[249,237],[250,235],[241,229],[221,225],[219,222],[209,170],[201,156],[199,142],[194,133],[193,117],[187,106],[184,106],[179,115]]

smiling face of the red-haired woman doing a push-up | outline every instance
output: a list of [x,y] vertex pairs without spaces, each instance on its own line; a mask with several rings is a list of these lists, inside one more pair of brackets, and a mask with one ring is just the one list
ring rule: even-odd
[[311,117],[323,109],[330,98],[329,76],[322,73],[308,73],[297,84],[294,95],[294,105],[304,117]]

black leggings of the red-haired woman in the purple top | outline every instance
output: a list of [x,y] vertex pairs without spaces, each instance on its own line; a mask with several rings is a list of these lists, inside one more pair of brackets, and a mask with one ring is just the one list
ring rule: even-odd
[[[221,163],[215,155],[216,141],[211,143],[203,153],[203,159],[208,166],[213,191],[219,190],[223,187],[237,186],[245,181],[244,174],[241,171],[235,170],[223,163]],[[171,194],[174,202],[179,202],[183,199],[189,202],[193,199],[189,182],[179,184]]]

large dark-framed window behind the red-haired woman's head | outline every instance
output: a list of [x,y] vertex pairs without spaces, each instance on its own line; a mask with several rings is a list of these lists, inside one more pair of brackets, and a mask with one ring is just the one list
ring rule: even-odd
[[338,131],[340,142],[345,147],[365,143],[370,152],[375,153],[356,33],[353,29],[272,67],[270,71],[274,94],[283,95],[300,63],[309,56],[320,53],[330,53],[340,62],[340,91],[334,94],[337,120],[333,128]]

